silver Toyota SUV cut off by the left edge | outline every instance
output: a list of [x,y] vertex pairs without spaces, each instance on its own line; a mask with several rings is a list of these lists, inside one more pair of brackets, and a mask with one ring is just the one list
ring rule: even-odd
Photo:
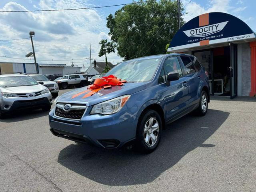
[[0,118],[3,114],[26,108],[49,111],[52,94],[26,74],[0,73]]

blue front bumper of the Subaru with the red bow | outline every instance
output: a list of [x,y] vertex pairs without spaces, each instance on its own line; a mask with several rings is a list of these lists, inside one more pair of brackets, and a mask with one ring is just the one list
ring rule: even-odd
[[124,110],[111,115],[90,115],[88,107],[81,120],[56,117],[49,113],[50,131],[55,136],[103,148],[119,148],[136,137],[138,118]]

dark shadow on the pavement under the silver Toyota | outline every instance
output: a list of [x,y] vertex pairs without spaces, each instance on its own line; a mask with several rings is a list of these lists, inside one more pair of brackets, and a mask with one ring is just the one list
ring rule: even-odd
[[3,119],[0,119],[0,122],[18,122],[18,121],[24,121],[34,118],[39,118],[42,116],[47,116],[50,111],[42,111],[41,109],[37,110],[20,110],[16,112],[12,112],[10,114],[5,114]]

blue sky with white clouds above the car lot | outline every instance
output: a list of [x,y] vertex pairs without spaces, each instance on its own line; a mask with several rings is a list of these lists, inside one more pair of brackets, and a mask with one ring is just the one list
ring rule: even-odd
[[[180,0],[185,6],[185,21],[206,13],[226,12],[248,24],[256,31],[256,0]],[[84,8],[131,3],[132,0],[1,0],[0,10],[49,10]],[[98,57],[102,39],[110,40],[106,17],[122,6],[75,11],[0,13],[0,62],[34,62],[25,55],[32,52],[29,32],[33,37],[38,63],[90,65]],[[13,40],[14,39],[14,40]],[[108,62],[121,62],[116,53],[108,55]]]

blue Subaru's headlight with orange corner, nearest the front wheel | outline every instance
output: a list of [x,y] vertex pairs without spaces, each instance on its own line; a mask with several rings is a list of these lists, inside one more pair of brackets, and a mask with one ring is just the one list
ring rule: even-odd
[[113,114],[118,112],[124,104],[128,101],[130,95],[124,95],[117,97],[93,106],[91,114]]

